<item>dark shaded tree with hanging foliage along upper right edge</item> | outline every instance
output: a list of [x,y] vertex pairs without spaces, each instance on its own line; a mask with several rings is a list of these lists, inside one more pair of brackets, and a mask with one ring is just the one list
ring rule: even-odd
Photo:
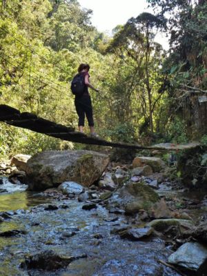
[[205,123],[199,124],[202,119],[197,117],[201,108],[197,106],[197,97],[205,95],[202,90],[206,90],[207,2],[148,0],[148,3],[160,18],[168,18],[170,55],[164,71],[170,81],[170,111],[185,114],[188,134],[195,139],[207,129]]

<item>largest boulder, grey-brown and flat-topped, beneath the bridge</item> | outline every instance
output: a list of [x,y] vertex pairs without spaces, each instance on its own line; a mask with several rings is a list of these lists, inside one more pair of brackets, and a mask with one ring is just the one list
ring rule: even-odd
[[90,186],[101,177],[109,157],[88,150],[52,150],[31,157],[26,164],[30,190],[57,187],[64,181]]

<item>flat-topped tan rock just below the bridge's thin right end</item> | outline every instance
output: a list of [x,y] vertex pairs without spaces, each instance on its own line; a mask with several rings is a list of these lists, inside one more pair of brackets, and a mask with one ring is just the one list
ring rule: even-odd
[[144,166],[152,167],[153,172],[160,172],[164,167],[164,161],[162,161],[159,157],[135,157],[132,162],[133,168],[144,167]]

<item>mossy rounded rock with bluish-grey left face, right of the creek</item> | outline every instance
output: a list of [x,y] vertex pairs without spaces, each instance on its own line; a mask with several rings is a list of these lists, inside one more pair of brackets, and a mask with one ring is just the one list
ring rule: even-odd
[[155,190],[144,183],[130,182],[117,190],[111,199],[109,206],[124,209],[127,214],[137,213],[140,209],[148,209],[159,199]]

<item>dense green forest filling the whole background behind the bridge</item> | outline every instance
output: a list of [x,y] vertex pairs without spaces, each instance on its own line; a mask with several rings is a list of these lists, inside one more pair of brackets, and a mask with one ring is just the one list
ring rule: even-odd
[[[70,81],[79,63],[89,63],[91,82],[103,91],[90,91],[101,137],[207,144],[184,116],[190,97],[207,92],[207,3],[148,4],[155,14],[137,14],[109,37],[77,0],[0,0],[0,103],[77,128]],[[155,42],[157,31],[168,34],[168,52]],[[1,157],[80,147],[3,123],[0,129]]]

